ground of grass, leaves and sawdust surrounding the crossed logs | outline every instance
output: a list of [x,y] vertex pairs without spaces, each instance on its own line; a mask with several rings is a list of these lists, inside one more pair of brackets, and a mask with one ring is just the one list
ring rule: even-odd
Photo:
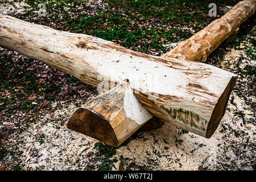
[[[238,1],[0,1],[0,14],[162,55]],[[38,3],[46,3],[46,16]],[[209,17],[215,2],[217,17]],[[224,4],[225,3],[225,4]],[[207,64],[236,73],[226,113],[210,139],[168,123],[115,148],[67,129],[96,96],[77,78],[0,48],[0,170],[255,170],[255,15]]]

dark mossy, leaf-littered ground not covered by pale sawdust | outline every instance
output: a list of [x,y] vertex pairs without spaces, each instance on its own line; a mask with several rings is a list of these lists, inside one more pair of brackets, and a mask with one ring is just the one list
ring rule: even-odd
[[[14,9],[19,9],[20,7],[15,6],[15,2],[20,1],[11,1],[10,6],[13,5]],[[41,2],[46,3],[47,15],[39,17],[38,3]],[[218,17],[208,15],[208,5],[211,2],[217,4]],[[237,2],[36,0],[26,1],[27,6],[22,7],[24,9],[22,13],[9,14],[57,30],[97,36],[135,51],[162,55],[171,48],[165,45],[188,39],[212,20],[222,16],[227,10],[226,6],[233,6]],[[240,32],[233,42],[222,43],[208,57],[207,64],[238,74],[239,78],[233,94],[245,102],[246,107],[243,109],[254,113],[243,123],[253,123],[255,126],[255,99],[252,98],[256,90],[255,64],[246,64],[242,67],[240,65],[243,59],[255,60],[254,27],[255,15],[241,25]],[[243,42],[248,44],[241,47]],[[243,50],[246,53],[246,55],[241,55],[241,60],[237,60],[237,63],[225,60],[225,54],[232,48]],[[53,103],[61,101],[63,105],[69,105],[73,102],[78,107],[97,92],[92,86],[39,61],[28,59],[26,56],[7,49],[0,51],[0,164],[2,165],[0,166],[2,169],[27,169],[23,165],[24,151],[16,147],[17,143],[24,142],[24,138],[19,136],[31,129],[33,125],[38,124],[46,114],[53,113]],[[57,108],[61,109],[63,105],[57,105]],[[235,110],[234,114],[243,119],[241,110]],[[60,127],[64,123],[65,120],[60,121]],[[222,124],[220,132],[226,133],[228,130],[232,131]],[[179,130],[179,135],[187,135],[187,131]],[[138,133],[134,134],[119,148],[126,146],[134,139],[143,138],[140,136]],[[40,145],[46,142],[43,133],[36,140]],[[253,148],[254,144],[247,148],[250,147]],[[155,169],[153,166],[158,163],[150,159],[148,165],[137,166],[135,160],[122,155],[117,157],[116,150],[118,149],[103,143],[96,144],[95,150],[96,154],[93,156],[96,156],[97,163],[92,160],[83,169],[113,169],[113,164],[117,160],[119,161],[118,169]],[[155,149],[153,153],[156,156],[160,155]],[[252,162],[251,166],[255,169],[255,162]],[[225,169],[225,167],[220,166],[220,169]],[[237,167],[230,169],[237,169]]]

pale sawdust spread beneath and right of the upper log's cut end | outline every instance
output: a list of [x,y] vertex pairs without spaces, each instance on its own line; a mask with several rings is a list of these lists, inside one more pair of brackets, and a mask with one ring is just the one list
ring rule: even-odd
[[[237,96],[234,97],[238,108],[242,108],[243,100]],[[236,107],[230,102],[229,107],[230,111],[226,111],[221,124],[238,132],[245,132],[246,135],[251,136],[249,142],[254,143],[255,126],[250,123],[241,126],[242,120],[233,114]],[[247,110],[246,119],[248,114],[251,113]],[[232,132],[229,137],[226,137],[226,133],[221,133],[221,124],[213,136],[206,139],[192,133],[181,134],[181,129],[164,123],[160,129],[143,133],[142,138],[131,140],[127,146],[118,148],[117,156],[123,155],[123,158],[132,159],[139,166],[149,166],[154,170],[197,170],[203,163],[203,167],[208,167],[209,170],[220,169],[224,158],[229,158],[225,164],[231,165],[233,161],[241,168],[241,163],[245,161],[238,158],[232,148],[228,148],[225,154],[223,152],[230,143],[241,143],[241,138],[237,138]],[[181,141],[177,142],[177,139]],[[246,151],[246,155],[254,156],[249,150]],[[116,168],[118,166],[119,162],[115,164]],[[247,166],[241,169],[252,170],[253,168]]]

